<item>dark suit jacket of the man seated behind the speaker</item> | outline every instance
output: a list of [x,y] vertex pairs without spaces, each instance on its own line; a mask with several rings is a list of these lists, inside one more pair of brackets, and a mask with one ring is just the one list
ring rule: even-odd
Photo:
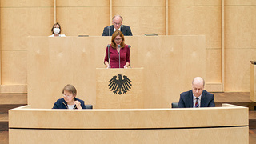
[[[120,28],[120,31],[124,36],[133,36],[130,30],[130,26],[122,25]],[[102,36],[112,36],[113,33],[114,33],[114,26],[113,25],[106,26],[103,30]]]

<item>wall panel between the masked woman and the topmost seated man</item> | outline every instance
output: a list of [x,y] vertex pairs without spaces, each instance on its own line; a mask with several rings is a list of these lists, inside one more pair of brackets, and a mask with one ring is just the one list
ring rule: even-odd
[[57,1],[57,22],[62,34],[101,36],[103,28],[110,25],[110,3],[106,0]]

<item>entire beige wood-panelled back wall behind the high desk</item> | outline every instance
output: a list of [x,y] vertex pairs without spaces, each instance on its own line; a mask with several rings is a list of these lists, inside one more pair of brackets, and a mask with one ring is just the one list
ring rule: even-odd
[[[114,14],[122,15],[123,24],[131,26],[134,35],[204,34],[206,83],[215,86],[225,84],[225,91],[249,92],[250,60],[256,57],[255,3],[254,0],[57,0],[56,18],[62,25],[62,34],[69,36],[99,36],[103,27],[110,25]],[[54,0],[1,0],[0,6],[0,92],[26,92],[26,36],[50,35],[54,23]],[[222,40],[225,47],[222,47]]]

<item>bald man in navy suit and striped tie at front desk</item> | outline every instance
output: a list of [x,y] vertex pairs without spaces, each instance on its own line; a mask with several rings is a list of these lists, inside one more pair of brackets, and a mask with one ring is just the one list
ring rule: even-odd
[[214,94],[208,93],[203,90],[205,86],[205,81],[201,77],[196,77],[192,81],[192,90],[183,92],[180,95],[178,102],[179,108],[188,107],[214,107]]

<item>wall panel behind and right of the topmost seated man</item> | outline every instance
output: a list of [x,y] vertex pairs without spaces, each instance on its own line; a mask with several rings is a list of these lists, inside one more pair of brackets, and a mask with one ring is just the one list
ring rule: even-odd
[[120,14],[133,35],[166,34],[165,1],[113,1],[113,15]]

